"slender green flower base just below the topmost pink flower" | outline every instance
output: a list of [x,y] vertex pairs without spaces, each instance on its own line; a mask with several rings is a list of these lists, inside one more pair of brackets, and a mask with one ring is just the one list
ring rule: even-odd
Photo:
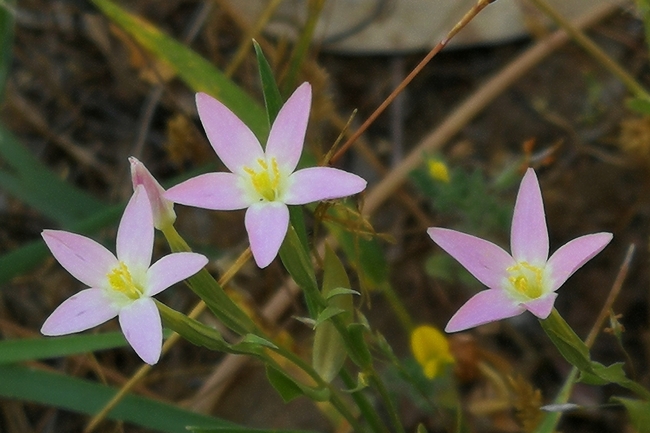
[[325,307],[324,300],[318,290],[309,254],[303,248],[296,230],[291,225],[280,247],[280,259],[291,278],[302,289],[310,317],[317,317],[318,312]]

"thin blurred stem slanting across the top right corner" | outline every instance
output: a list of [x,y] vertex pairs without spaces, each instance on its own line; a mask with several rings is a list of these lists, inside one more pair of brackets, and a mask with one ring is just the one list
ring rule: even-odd
[[601,65],[607,68],[612,74],[616,75],[628,90],[636,97],[650,100],[650,93],[639,82],[623,69],[616,61],[609,57],[603,50],[592,42],[582,31],[577,29],[561,14],[559,14],[546,0],[531,0],[535,6],[555,23],[564,29],[573,40],[575,40],[587,53],[595,58]]

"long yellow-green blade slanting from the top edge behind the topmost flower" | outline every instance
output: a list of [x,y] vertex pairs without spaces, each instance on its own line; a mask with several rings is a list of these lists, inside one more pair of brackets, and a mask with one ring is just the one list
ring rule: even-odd
[[217,98],[237,115],[260,139],[266,141],[268,124],[264,109],[206,59],[161,32],[153,24],[130,14],[109,0],[93,3],[140,45],[163,60],[195,92]]

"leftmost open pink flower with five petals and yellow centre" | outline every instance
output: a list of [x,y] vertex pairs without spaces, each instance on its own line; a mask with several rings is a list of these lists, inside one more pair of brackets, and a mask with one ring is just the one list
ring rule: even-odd
[[196,253],[174,253],[151,264],[151,205],[143,186],[131,197],[117,230],[117,257],[87,237],[44,230],[43,239],[72,276],[89,286],[65,300],[47,318],[44,335],[84,331],[115,316],[126,340],[148,364],[162,348],[162,324],[152,296],[198,272],[208,262]]

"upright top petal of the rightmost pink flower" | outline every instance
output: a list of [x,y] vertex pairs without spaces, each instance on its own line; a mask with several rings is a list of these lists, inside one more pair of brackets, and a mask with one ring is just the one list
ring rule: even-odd
[[518,262],[542,266],[548,258],[548,230],[542,192],[537,176],[529,168],[521,181],[510,234],[512,257]]

